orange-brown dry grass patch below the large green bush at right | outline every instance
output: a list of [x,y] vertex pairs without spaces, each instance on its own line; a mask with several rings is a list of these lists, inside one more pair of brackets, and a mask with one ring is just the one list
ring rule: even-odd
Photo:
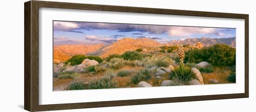
[[227,80],[231,70],[228,67],[218,68],[215,67],[215,71],[211,73],[202,73],[204,84],[214,84],[209,82],[210,79],[218,80],[217,84],[232,83]]

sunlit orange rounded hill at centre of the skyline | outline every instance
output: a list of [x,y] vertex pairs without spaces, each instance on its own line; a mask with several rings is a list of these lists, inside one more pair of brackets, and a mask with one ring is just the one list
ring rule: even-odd
[[132,38],[123,38],[121,40],[116,41],[115,43],[105,46],[101,49],[101,52],[98,52],[102,58],[108,57],[111,54],[122,54],[126,51],[134,51],[138,48],[153,48],[153,47],[160,47],[162,44],[146,39],[132,39]]

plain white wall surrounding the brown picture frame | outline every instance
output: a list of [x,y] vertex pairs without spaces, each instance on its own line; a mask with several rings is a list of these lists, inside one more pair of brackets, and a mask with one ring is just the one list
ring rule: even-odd
[[[24,102],[24,5],[27,0],[0,4],[0,112],[26,112]],[[154,7],[249,14],[249,98],[76,109],[72,112],[255,112],[256,10],[253,0],[54,0],[88,4]],[[71,110],[56,111],[71,112]]]

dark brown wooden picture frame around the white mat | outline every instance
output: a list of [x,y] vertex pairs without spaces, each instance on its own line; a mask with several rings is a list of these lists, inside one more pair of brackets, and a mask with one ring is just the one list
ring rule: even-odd
[[[51,111],[64,109],[80,109],[108,106],[123,105],[144,105],[171,102],[186,102],[214,99],[235,99],[249,97],[249,15],[237,13],[215,13],[187,10],[172,10],[158,8],[143,7],[122,7],[107,5],[92,5],[79,3],[64,3],[51,1],[27,1],[24,7],[24,38],[25,38],[25,68],[24,68],[24,108],[27,111]],[[157,99],[134,99],[134,100],[117,100],[117,101],[100,101],[100,102],[84,102],[71,104],[52,104],[39,105],[39,7],[50,8],[66,8],[81,10],[97,10],[97,11],[114,11],[114,12],[130,12],[130,13],[153,13],[153,14],[170,14],[185,16],[202,16],[216,18],[232,18],[245,20],[245,84],[244,93],[221,94],[221,95],[203,95],[173,98],[157,98]]]

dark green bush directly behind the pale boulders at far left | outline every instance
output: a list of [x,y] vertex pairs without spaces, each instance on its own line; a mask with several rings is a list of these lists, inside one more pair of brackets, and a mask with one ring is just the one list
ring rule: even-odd
[[85,55],[74,55],[71,57],[71,59],[68,59],[65,63],[66,64],[70,63],[70,65],[75,66],[75,65],[81,64],[83,60],[86,58],[87,57]]

